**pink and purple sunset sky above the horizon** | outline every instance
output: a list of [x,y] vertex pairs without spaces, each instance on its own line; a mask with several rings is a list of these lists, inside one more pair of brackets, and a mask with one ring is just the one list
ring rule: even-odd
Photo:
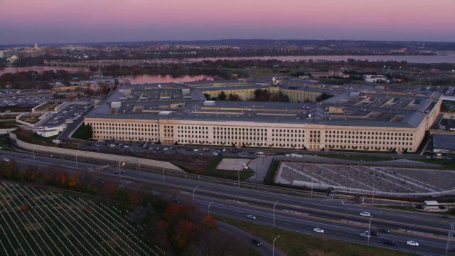
[[0,44],[455,41],[455,0],[0,0]]

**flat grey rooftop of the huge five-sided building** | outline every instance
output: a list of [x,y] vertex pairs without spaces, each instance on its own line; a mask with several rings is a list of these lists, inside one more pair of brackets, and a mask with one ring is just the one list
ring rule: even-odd
[[[237,88],[257,83],[224,81]],[[213,85],[213,84],[216,85]],[[206,101],[197,89],[222,91],[223,82],[161,83],[119,87],[88,116],[112,119],[196,119],[238,122],[282,122],[371,127],[417,127],[440,95],[359,91],[336,86],[338,95],[323,102]],[[265,85],[259,85],[267,87]],[[277,85],[272,85],[277,87]],[[289,85],[284,86],[284,88]],[[333,92],[330,85],[318,90]],[[165,113],[165,114],[164,114]]]

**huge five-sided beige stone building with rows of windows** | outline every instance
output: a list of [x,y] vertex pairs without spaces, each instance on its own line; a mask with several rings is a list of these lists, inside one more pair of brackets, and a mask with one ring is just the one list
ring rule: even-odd
[[[289,102],[246,101],[257,89],[293,95]],[[222,91],[242,101],[205,98]],[[308,102],[322,92],[336,96]],[[232,81],[126,85],[95,102],[85,124],[92,126],[97,140],[414,152],[439,114],[441,102],[439,92],[358,85],[299,87]]]

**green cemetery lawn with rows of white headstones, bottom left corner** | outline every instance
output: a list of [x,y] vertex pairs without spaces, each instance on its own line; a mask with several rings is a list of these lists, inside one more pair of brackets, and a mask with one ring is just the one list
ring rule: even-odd
[[126,210],[9,183],[0,195],[2,255],[164,255]]

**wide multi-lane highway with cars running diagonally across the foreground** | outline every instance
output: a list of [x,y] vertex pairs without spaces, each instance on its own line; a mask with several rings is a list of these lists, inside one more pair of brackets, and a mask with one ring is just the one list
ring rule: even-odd
[[[43,169],[46,166],[60,166],[69,171],[75,170],[74,161],[53,159],[42,156],[21,158],[23,154],[0,151],[0,160],[4,158],[16,159],[18,166],[36,164]],[[87,170],[96,168],[93,164],[78,163],[77,169]],[[119,180],[118,174],[112,171],[97,174],[97,179]],[[319,235],[326,238],[356,242],[365,245],[387,247],[405,252],[414,252],[420,255],[445,255],[447,234],[450,230],[451,220],[439,218],[437,214],[418,213],[388,208],[370,208],[359,206],[352,201],[330,199],[319,194],[314,198],[268,193],[247,188],[238,188],[223,184],[214,184],[166,176],[166,174],[150,174],[143,171],[126,170],[122,174],[122,186],[135,186],[136,183],[146,184],[146,189],[158,191],[165,195],[164,199],[171,200],[176,195],[183,203],[194,201],[200,210],[209,210],[213,215],[224,215],[230,218],[248,222],[269,225],[277,228],[294,230],[299,233]],[[166,195],[171,196],[166,196]],[[213,202],[213,203],[212,203]],[[273,207],[276,204],[275,208]],[[360,212],[371,213],[370,230],[388,228],[390,233],[380,233],[379,237],[370,239],[360,237],[360,233],[368,230],[369,217],[362,217]],[[247,214],[257,218],[250,220]],[[314,228],[323,228],[325,233],[314,233]],[[398,242],[397,247],[383,245],[384,239]],[[406,245],[407,240],[419,242],[419,247]],[[249,241],[251,243],[251,241]],[[452,239],[452,243],[453,239]]]

